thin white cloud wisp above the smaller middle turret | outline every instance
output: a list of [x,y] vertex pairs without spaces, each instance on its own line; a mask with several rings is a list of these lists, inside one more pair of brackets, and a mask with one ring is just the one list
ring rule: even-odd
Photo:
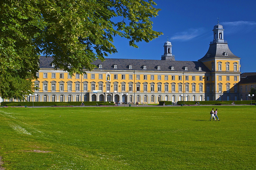
[[202,28],[198,28],[198,29],[189,29],[187,31],[183,31],[183,32],[178,32],[176,33],[174,36],[172,36],[170,39],[171,40],[183,40],[183,41],[187,41],[187,40],[191,40],[197,36],[199,36],[200,34],[202,34],[204,31]]

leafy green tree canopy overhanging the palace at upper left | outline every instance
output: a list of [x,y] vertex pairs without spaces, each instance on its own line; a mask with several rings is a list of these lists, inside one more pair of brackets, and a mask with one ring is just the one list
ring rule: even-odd
[[[160,9],[152,0],[2,0],[0,2],[0,96],[32,93],[39,56],[55,69],[92,70],[93,60],[116,53],[113,37],[136,43],[161,35],[152,30]],[[72,67],[68,67],[71,64]]]

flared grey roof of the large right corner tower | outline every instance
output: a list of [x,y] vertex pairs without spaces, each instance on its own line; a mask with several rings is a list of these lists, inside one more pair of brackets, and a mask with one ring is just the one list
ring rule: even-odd
[[[228,54],[227,56],[225,56],[225,52]],[[207,54],[210,54],[209,57]],[[199,59],[198,61],[202,61],[202,60],[210,59],[214,57],[240,59],[240,57],[235,56],[230,51],[227,43],[214,43],[214,44],[210,44],[210,47],[207,53],[205,54],[205,56]]]

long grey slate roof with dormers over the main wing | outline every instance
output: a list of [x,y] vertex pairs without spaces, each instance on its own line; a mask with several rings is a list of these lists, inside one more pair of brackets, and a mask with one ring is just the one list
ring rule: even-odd
[[[40,57],[40,68],[54,68],[51,67],[51,61],[53,59],[45,56]],[[105,58],[105,61],[100,60],[93,61],[97,67],[94,70],[137,70],[137,71],[172,71],[172,72],[210,72],[210,70],[200,61],[167,61],[167,60],[141,60],[141,59],[114,59]],[[99,64],[102,68],[98,68]],[[114,65],[117,65],[117,69],[114,69]],[[132,69],[129,69],[129,65]],[[143,66],[147,66],[147,69],[143,69]],[[160,70],[157,70],[157,66],[160,66]],[[174,70],[171,70],[174,67]],[[185,67],[188,70],[185,70]],[[198,68],[201,67],[201,71]]]

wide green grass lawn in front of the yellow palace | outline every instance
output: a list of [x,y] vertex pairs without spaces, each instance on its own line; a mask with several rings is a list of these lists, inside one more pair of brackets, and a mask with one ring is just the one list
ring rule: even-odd
[[2,166],[255,169],[256,106],[211,108],[0,108]]

